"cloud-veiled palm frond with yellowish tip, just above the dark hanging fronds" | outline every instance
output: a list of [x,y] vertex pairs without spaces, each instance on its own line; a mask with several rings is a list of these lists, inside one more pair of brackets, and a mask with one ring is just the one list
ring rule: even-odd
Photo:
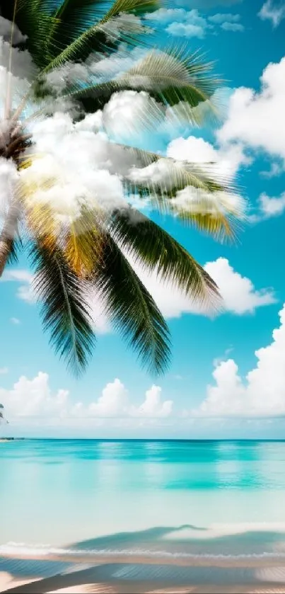
[[129,171],[124,175],[127,193],[149,198],[160,212],[175,215],[218,239],[235,237],[245,205],[234,181],[219,175],[214,164],[177,161],[141,149],[115,146],[129,158]]

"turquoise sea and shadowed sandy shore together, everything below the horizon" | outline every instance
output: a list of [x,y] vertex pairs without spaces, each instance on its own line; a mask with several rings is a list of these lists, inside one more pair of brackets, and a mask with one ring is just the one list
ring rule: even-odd
[[2,591],[284,591],[285,442],[3,447]]

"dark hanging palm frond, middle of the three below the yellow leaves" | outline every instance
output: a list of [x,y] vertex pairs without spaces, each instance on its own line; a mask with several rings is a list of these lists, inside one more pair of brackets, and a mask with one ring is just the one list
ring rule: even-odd
[[156,373],[163,372],[170,359],[168,326],[111,236],[106,238],[103,266],[94,284],[115,329],[127,338],[142,364]]

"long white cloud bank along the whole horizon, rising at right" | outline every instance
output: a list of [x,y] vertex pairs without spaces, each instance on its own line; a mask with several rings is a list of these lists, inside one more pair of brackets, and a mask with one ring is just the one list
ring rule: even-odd
[[[232,358],[216,360],[212,373],[215,383],[208,385],[207,396],[196,409],[174,410],[173,400],[163,399],[162,389],[156,384],[146,390],[141,404],[134,404],[118,378],[105,385],[98,399],[74,402],[66,389],[52,392],[50,377],[43,372],[33,379],[21,376],[12,389],[0,388],[0,401],[6,418],[16,427],[30,423],[34,427],[60,429],[67,423],[80,428],[95,423],[113,428],[136,425],[155,428],[166,421],[168,426],[185,427],[183,423],[216,422],[223,418],[248,421],[285,418],[285,304],[279,317],[272,342],[255,351],[257,365],[245,379]],[[189,403],[194,396],[197,394],[189,393]]]

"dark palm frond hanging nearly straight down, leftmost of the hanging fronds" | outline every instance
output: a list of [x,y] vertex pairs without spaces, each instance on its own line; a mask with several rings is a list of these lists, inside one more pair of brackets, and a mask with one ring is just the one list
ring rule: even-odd
[[85,369],[95,342],[84,287],[57,244],[47,249],[38,241],[30,255],[35,267],[35,292],[43,303],[44,329],[50,331],[56,353],[78,375]]

